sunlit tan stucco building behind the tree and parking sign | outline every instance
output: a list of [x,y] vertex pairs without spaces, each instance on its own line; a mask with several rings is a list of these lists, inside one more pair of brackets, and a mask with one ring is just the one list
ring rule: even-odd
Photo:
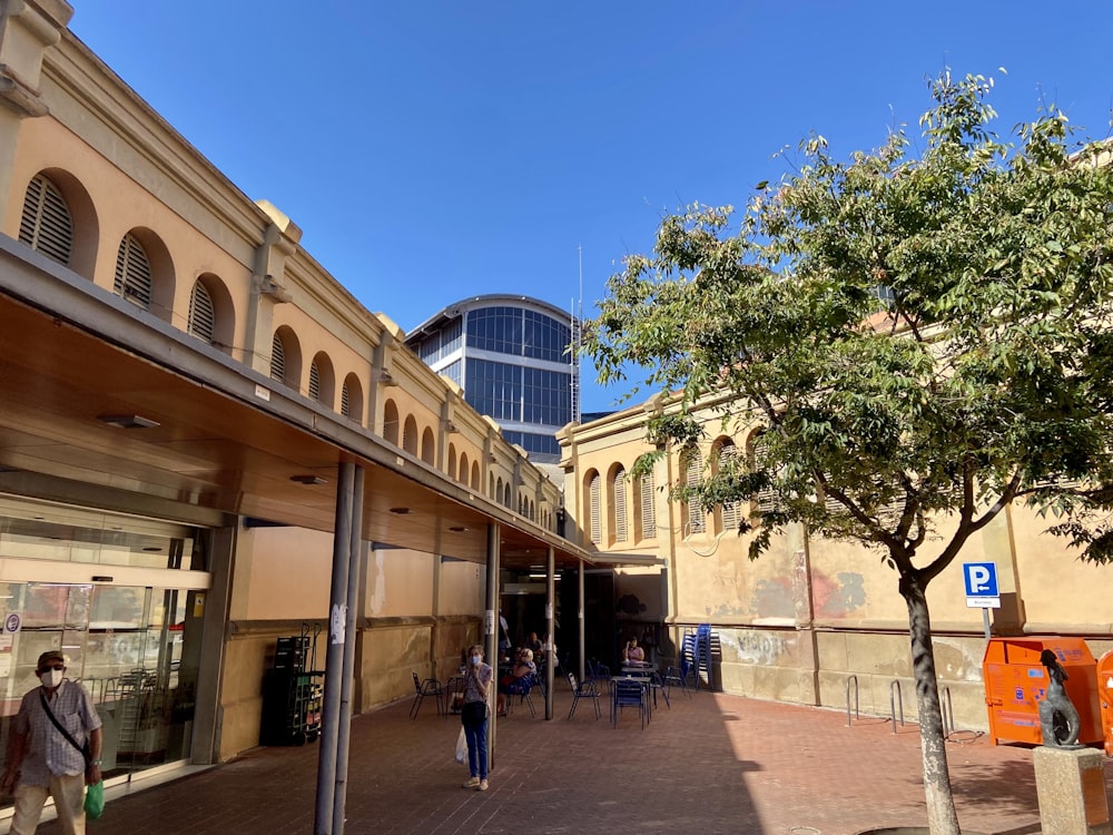
[[[659,618],[657,650],[676,658],[683,635],[710,623],[720,647],[715,685],[729,692],[838,709],[857,695],[864,713],[888,716],[899,687],[904,710],[914,717],[907,609],[896,572],[879,553],[810,537],[796,525],[751,561],[754,534],[738,534],[748,507],[705,512],[669,501],[667,488],[705,464],[752,455],[757,426],[726,434],[719,405],[708,401],[702,410],[700,455],[681,462],[669,449],[651,478],[627,473],[653,449],[644,421],[669,407],[661,397],[561,435],[565,502],[578,520],[569,536],[589,550],[659,563],[617,569],[617,599],[632,595],[646,605],[620,615],[620,637],[643,633]],[[1061,538],[1043,532],[1047,524],[1027,508],[1006,509],[928,588],[939,686],[958,728],[987,727],[984,616],[967,607],[962,563],[996,564],[994,636],[1081,637],[1095,658],[1113,648],[1109,568],[1081,562]]]

